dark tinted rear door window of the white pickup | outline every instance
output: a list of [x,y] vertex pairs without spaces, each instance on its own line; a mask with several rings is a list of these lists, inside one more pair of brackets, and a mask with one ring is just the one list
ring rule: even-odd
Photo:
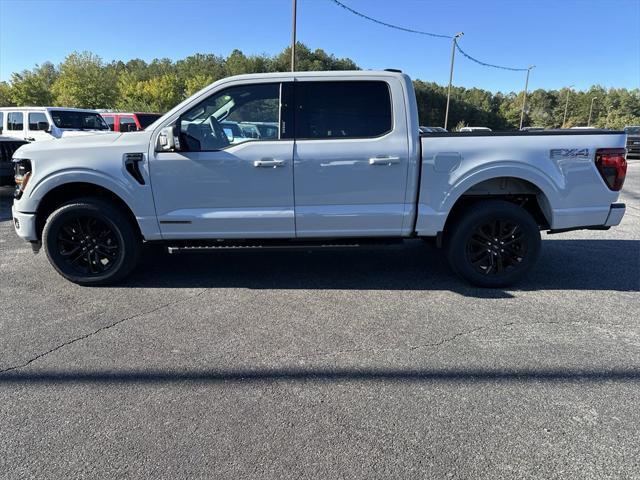
[[297,138],[366,138],[391,130],[385,82],[296,83]]

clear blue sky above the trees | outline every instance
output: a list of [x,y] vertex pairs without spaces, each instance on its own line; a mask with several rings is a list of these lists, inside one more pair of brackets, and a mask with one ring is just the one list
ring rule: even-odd
[[[640,87],[640,0],[342,0],[388,23],[464,31],[461,46],[489,63],[535,64],[531,88],[575,84]],[[281,51],[290,43],[290,0],[0,0],[0,79],[74,50],[105,61],[193,53]],[[400,68],[446,84],[446,39],[390,30],[329,0],[298,0],[298,40],[362,68]],[[524,73],[456,58],[454,83],[523,88]]]

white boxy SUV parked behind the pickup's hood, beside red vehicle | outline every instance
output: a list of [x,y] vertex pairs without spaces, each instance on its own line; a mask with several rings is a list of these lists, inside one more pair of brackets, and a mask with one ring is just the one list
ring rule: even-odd
[[27,142],[109,132],[95,110],[64,107],[0,108],[0,135]]

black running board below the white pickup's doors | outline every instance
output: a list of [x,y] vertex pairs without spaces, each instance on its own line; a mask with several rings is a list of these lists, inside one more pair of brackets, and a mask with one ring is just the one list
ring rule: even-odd
[[402,243],[402,239],[357,239],[357,240],[327,240],[327,241],[251,241],[251,242],[224,242],[216,244],[198,243],[184,245],[169,245],[167,251],[173,253],[185,252],[214,252],[235,250],[292,250],[292,249],[327,249],[327,248],[358,248],[370,246],[386,246]]

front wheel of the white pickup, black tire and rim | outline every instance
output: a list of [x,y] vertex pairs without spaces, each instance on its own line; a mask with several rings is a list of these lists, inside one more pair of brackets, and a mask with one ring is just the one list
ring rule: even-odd
[[79,198],[47,218],[42,243],[53,268],[67,280],[107,285],[131,273],[142,242],[121,209],[98,198]]

